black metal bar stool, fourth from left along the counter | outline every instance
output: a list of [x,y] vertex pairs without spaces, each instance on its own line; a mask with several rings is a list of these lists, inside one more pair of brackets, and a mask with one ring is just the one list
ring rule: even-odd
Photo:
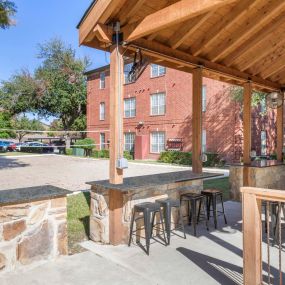
[[[222,191],[217,190],[217,189],[205,189],[201,193],[207,197],[208,220],[210,219],[210,212],[213,211],[215,229],[217,228],[217,225],[218,225],[218,213],[221,213],[224,216],[225,224],[227,224]],[[220,197],[221,199],[222,211],[217,210],[217,198],[218,197]],[[212,205],[212,210],[211,210],[211,205]]]

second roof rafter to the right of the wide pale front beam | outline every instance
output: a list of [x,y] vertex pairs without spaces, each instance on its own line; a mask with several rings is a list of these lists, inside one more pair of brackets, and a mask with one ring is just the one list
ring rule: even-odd
[[191,53],[195,56],[201,54],[208,48],[226,29],[236,23],[249,8],[255,4],[255,1],[241,0],[235,5],[225,17],[223,17],[216,25],[214,25],[205,35],[191,46]]

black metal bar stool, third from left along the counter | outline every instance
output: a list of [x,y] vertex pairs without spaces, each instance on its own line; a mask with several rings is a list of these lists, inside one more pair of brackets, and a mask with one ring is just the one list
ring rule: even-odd
[[203,204],[203,210],[204,210],[204,216],[205,216],[205,222],[206,222],[206,228],[209,230],[208,227],[208,219],[207,219],[207,211],[206,211],[206,197],[202,194],[197,193],[186,193],[182,194],[180,197],[180,203],[185,201],[188,203],[189,208],[189,225],[193,223],[193,229],[194,229],[194,235],[196,236],[196,226],[197,226],[197,203],[199,202],[199,208],[201,208],[201,205]]

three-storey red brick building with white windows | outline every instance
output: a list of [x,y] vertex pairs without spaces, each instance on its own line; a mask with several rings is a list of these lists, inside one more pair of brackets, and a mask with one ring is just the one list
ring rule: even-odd
[[[129,65],[125,66],[126,74]],[[109,139],[109,66],[86,73],[87,129],[100,148]],[[124,148],[135,147],[136,158],[157,159],[165,149],[191,151],[192,76],[148,65],[136,82],[124,85]],[[242,156],[241,108],[229,84],[203,79],[203,151],[219,153],[227,161]],[[257,155],[275,149],[275,112],[252,116],[252,148]],[[274,129],[274,128],[273,128]],[[270,130],[270,132],[268,131]],[[99,148],[99,147],[97,147]]]

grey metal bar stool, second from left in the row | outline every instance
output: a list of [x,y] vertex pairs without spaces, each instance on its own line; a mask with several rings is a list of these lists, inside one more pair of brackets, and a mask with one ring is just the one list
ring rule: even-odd
[[[177,208],[179,211],[179,222],[180,222],[180,228],[183,231],[184,238],[186,239],[184,224],[183,224],[183,217],[182,217],[182,211],[180,206],[179,200],[174,200],[170,198],[166,199],[158,199],[155,201],[156,203],[160,204],[160,206],[164,210],[164,220],[165,220],[165,230],[167,234],[167,241],[168,244],[170,244],[170,233],[171,233],[171,210],[172,208]],[[175,229],[178,229],[177,227]]]

